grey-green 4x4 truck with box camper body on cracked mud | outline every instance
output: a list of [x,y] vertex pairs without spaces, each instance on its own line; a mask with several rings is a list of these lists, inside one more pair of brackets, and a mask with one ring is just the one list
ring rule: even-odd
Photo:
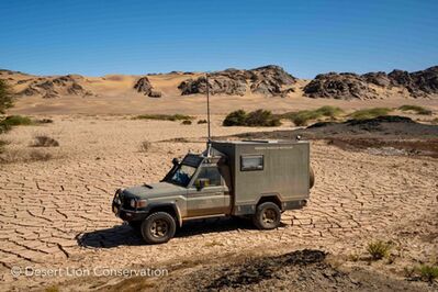
[[306,204],[314,180],[305,141],[211,142],[172,164],[160,182],[119,189],[113,199],[115,215],[148,244],[198,218],[250,216],[260,229],[276,228],[283,211]]

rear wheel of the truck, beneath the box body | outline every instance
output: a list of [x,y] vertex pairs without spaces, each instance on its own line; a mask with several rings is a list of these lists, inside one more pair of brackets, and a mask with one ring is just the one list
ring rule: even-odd
[[280,225],[280,221],[281,210],[272,202],[259,204],[252,216],[252,223],[259,229],[274,229]]

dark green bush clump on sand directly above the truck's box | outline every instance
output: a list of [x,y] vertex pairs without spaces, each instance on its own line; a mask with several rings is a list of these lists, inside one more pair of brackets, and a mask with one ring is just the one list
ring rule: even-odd
[[280,116],[270,111],[257,110],[246,113],[244,110],[237,110],[229,113],[222,123],[224,126],[279,126]]

